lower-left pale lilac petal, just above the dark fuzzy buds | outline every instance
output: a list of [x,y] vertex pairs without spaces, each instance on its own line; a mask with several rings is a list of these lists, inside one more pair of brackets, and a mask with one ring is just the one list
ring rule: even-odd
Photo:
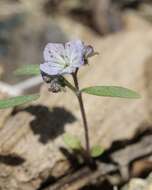
[[50,63],[47,62],[47,63],[40,64],[40,70],[50,76],[53,76],[53,75],[59,75],[61,71],[63,70],[63,68],[55,66],[55,65],[51,65]]

